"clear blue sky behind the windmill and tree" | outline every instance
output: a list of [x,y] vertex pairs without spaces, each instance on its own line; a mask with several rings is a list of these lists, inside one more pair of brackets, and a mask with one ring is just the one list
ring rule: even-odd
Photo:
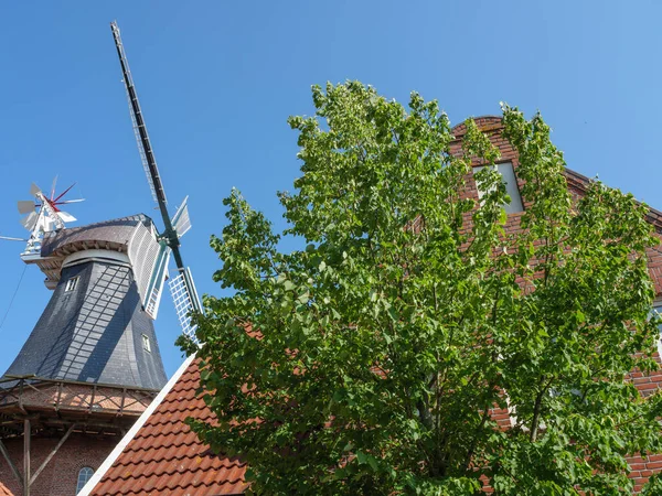
[[[209,237],[238,187],[281,226],[277,190],[299,173],[286,119],[310,85],[360,79],[407,101],[437,98],[453,122],[536,109],[568,166],[662,208],[662,3],[622,1],[1,2],[0,234],[31,182],[77,182],[77,225],[157,217],[134,140],[109,21],[119,22],[171,207],[186,194],[184,261],[218,293]],[[159,220],[160,223],[160,220]],[[0,241],[0,319],[23,271]],[[29,267],[0,328],[0,374],[51,293]],[[169,295],[157,321],[168,374],[181,363]]]

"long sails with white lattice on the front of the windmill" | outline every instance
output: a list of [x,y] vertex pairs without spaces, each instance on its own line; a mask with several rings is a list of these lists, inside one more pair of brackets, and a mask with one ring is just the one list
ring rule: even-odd
[[121,66],[134,132],[136,134],[136,141],[138,142],[138,151],[140,153],[140,159],[152,197],[159,207],[164,226],[163,231],[159,235],[160,250],[149,278],[149,287],[145,294],[143,306],[146,312],[152,316],[152,319],[157,317],[163,284],[168,276],[168,265],[170,256],[172,255],[178,273],[169,281],[170,292],[174,301],[177,316],[183,333],[186,336],[194,338],[195,326],[191,323],[190,312],[191,310],[197,312],[201,311],[201,305],[191,271],[184,266],[180,251],[180,238],[191,228],[188,197],[184,198],[174,216],[170,217],[166,191],[163,190],[163,183],[161,182],[161,175],[159,174],[142,111],[140,110],[134,78],[131,77],[131,72],[129,69],[129,62],[121,43],[121,36],[116,21],[110,23],[110,30],[113,31],[113,37],[115,40],[115,46]]

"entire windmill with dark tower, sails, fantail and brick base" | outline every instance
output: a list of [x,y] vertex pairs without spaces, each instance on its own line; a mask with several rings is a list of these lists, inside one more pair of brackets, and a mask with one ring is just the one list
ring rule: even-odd
[[168,381],[153,326],[167,280],[183,332],[195,331],[190,311],[200,303],[180,252],[186,201],[170,217],[116,23],[111,30],[163,229],[143,214],[66,228],[76,219],[60,208],[78,201],[55,185],[50,194],[32,185],[33,200],[19,202],[30,233],[21,258],[53,294],[0,377],[0,496],[76,494],[146,411]]

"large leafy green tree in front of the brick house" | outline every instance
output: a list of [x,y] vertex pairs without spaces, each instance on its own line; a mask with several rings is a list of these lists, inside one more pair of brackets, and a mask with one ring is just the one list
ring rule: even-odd
[[218,421],[194,431],[256,494],[630,494],[626,455],[662,450],[660,396],[624,380],[655,368],[647,207],[599,182],[573,200],[547,125],[503,105],[526,205],[509,235],[493,168],[462,197],[472,159],[499,158],[474,122],[453,154],[437,101],[356,82],[312,99],[279,194],[306,248],[224,201],[214,279],[235,292],[197,316]]

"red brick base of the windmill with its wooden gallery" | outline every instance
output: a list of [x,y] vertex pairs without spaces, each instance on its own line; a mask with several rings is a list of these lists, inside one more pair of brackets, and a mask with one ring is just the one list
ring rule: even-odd
[[[156,391],[72,381],[15,381],[0,389],[0,438],[23,474],[23,419],[31,422],[31,476],[72,424],[70,436],[31,486],[31,496],[75,495],[78,471],[96,471],[125,432],[151,403]],[[0,496],[22,495],[0,456]]]

